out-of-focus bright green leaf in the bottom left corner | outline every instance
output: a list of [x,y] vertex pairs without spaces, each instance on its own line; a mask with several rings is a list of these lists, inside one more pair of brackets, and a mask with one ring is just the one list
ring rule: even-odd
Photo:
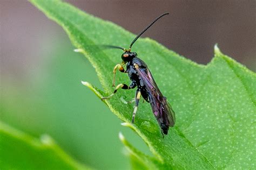
[[39,140],[0,122],[0,137],[1,169],[90,169],[46,134]]

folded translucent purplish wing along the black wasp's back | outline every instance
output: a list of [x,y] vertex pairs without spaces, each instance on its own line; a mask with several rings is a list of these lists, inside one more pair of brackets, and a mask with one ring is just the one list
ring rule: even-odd
[[[161,129],[167,129],[168,131],[169,126],[173,127],[175,124],[175,113],[172,110],[171,105],[167,102],[166,97],[161,94],[161,91],[154,81],[149,69],[138,68],[137,72],[149,93],[149,100],[154,116],[157,118]],[[167,132],[165,134],[167,134]]]

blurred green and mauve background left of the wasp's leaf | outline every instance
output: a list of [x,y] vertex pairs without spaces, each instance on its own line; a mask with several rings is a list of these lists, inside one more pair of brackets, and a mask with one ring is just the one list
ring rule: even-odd
[[[73,52],[62,28],[30,3],[14,3],[21,6],[1,10],[4,22],[9,23],[3,26],[4,37],[1,32],[1,121],[34,137],[49,134],[73,158],[97,169],[130,168],[118,138],[120,131],[150,154],[142,139],[120,125],[109,108],[82,85],[81,80],[101,87],[95,69],[82,54]],[[38,18],[25,8],[41,15],[46,25],[39,26]]]

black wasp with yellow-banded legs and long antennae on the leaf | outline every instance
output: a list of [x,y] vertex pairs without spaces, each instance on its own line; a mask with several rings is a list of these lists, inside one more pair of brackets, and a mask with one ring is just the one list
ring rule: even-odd
[[[118,46],[107,46],[110,48],[119,48],[124,51],[122,54],[123,62],[114,67],[113,70],[113,87],[116,77],[116,70],[118,69],[122,73],[128,73],[131,80],[130,86],[126,84],[118,84],[116,89],[114,89],[113,94],[108,97],[103,97],[102,100],[110,98],[113,96],[119,88],[122,89],[133,89],[137,86],[136,96],[135,96],[135,108],[132,115],[132,123],[134,122],[134,117],[137,112],[140,96],[144,98],[146,102],[149,102],[153,111],[154,116],[156,117],[158,124],[161,128],[162,134],[167,134],[169,126],[173,127],[175,123],[175,113],[172,110],[171,105],[167,102],[166,97],[161,94],[156,82],[153,79],[153,76],[147,68],[147,65],[144,61],[139,59],[136,52],[131,52],[132,45],[134,42],[147,30],[151,25],[153,25],[161,17],[168,15],[169,13],[164,13],[157,17],[151,24],[149,24],[145,29],[138,34],[136,38],[132,41],[129,49],[125,49]],[[124,70],[124,65],[126,65],[126,70]]]

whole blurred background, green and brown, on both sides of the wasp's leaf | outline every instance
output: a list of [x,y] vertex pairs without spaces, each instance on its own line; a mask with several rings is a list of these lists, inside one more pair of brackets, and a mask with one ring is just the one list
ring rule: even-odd
[[[198,1],[198,5],[143,2],[136,8],[132,8],[132,2],[127,6],[117,2],[70,2],[134,33],[160,13],[170,11],[170,21],[159,21],[145,36],[199,63],[210,61],[213,45],[218,42],[221,51],[255,70],[255,1]],[[1,121],[35,137],[49,134],[73,158],[98,169],[130,167],[118,139],[119,131],[150,154],[142,139],[121,126],[106,105],[80,83],[83,80],[101,87],[95,69],[82,54],[73,52],[62,28],[29,2],[0,3]],[[127,21],[136,20],[136,24],[123,19],[128,17],[131,19]]]

